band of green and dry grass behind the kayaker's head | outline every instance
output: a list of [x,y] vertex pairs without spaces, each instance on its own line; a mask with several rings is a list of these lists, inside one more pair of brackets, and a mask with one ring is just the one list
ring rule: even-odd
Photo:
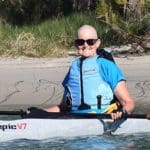
[[93,25],[102,38],[103,46],[119,44],[124,39],[114,34],[92,15],[74,13],[47,20],[37,25],[12,26],[0,24],[0,55],[50,57],[74,48],[77,29],[83,24]]

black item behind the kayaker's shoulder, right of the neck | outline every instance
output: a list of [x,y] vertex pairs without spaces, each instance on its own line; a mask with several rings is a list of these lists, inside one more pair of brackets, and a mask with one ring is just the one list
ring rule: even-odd
[[96,52],[99,55],[99,57],[106,58],[106,59],[108,59],[108,60],[110,60],[110,61],[115,63],[115,60],[114,60],[114,58],[113,58],[113,56],[112,56],[112,54],[110,52],[107,52],[104,49],[97,49]]

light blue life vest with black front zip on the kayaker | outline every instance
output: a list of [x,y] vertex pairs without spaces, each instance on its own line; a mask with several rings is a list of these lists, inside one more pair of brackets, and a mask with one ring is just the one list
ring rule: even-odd
[[[80,59],[72,62],[67,83],[67,89],[72,99],[71,111],[73,112],[103,112],[113,99],[113,92],[108,83],[102,77],[97,64],[98,55],[86,58],[82,62],[82,83],[84,102],[90,105],[88,110],[78,110],[81,105],[81,70]],[[97,96],[101,96],[101,109],[97,108]]]

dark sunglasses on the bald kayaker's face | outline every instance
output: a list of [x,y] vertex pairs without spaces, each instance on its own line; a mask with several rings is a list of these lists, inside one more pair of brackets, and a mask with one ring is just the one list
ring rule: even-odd
[[75,45],[82,46],[86,42],[89,46],[92,46],[96,43],[97,40],[98,39],[88,39],[88,40],[76,39],[75,40]]

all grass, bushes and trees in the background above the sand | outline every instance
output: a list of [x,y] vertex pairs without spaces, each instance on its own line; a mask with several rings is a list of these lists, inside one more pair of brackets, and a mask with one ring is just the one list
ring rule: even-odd
[[127,0],[0,0],[0,55],[60,55],[75,49],[83,24],[97,29],[102,47],[127,44],[130,35],[149,37],[150,2],[133,6]]

